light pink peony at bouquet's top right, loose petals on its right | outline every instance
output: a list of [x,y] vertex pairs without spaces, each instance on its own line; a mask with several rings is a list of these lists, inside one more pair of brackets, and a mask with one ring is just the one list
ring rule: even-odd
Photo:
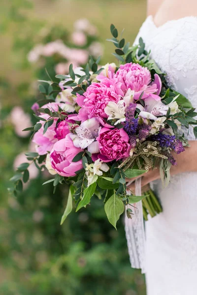
[[136,63],[131,62],[120,65],[114,78],[121,83],[121,89],[124,93],[128,89],[135,91],[134,99],[138,99],[143,91],[142,98],[146,98],[150,93],[157,93],[159,95],[161,91],[160,77],[156,75],[156,83],[151,83],[150,71],[146,67],[142,67]]

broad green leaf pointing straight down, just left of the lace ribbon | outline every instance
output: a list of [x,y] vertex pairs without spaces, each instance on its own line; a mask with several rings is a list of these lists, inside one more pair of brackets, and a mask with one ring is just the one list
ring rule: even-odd
[[104,210],[109,222],[115,227],[120,215],[124,212],[124,204],[115,194],[105,203]]

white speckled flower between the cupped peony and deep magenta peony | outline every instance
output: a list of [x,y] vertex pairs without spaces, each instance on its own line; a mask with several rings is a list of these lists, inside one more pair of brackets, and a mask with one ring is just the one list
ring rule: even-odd
[[75,129],[76,134],[70,134],[73,145],[76,148],[87,148],[99,135],[99,122],[96,118],[91,118]]

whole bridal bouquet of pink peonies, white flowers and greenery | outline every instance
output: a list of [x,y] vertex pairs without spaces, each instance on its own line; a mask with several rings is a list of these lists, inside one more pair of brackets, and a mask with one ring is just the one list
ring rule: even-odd
[[[26,153],[27,162],[11,178],[14,193],[29,179],[31,163],[54,175],[58,184],[67,184],[69,194],[61,224],[71,212],[90,204],[92,197],[104,203],[109,222],[117,220],[127,208],[142,200],[144,218],[155,216],[162,208],[148,189],[134,195],[126,186],[133,178],[160,167],[161,178],[169,181],[170,165],[176,162],[170,153],[179,154],[187,146],[184,131],[197,124],[195,109],[186,97],[167,88],[165,75],[158,68],[143,40],[130,46],[111,25],[113,54],[119,64],[99,67],[90,57],[85,67],[69,75],[57,75],[60,83],[41,81],[44,99],[33,106],[38,122],[24,131],[33,131],[36,152]],[[122,34],[121,34],[122,35]],[[197,137],[197,127],[194,127]],[[23,182],[22,182],[23,181]],[[134,204],[134,205],[133,205]],[[130,205],[130,206],[128,206]]]

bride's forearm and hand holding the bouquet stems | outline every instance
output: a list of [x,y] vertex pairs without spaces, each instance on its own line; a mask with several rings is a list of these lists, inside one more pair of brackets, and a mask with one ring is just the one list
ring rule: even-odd
[[[172,153],[177,165],[171,166],[170,175],[176,175],[184,172],[197,172],[197,141],[189,141],[190,147],[185,148],[185,151],[180,154]],[[137,178],[137,177],[136,177]],[[159,179],[159,169],[150,170],[142,175],[141,185],[144,186],[149,182]],[[135,178],[133,178],[135,179]],[[127,179],[128,181],[131,179]],[[129,186],[134,192],[134,183]]]

